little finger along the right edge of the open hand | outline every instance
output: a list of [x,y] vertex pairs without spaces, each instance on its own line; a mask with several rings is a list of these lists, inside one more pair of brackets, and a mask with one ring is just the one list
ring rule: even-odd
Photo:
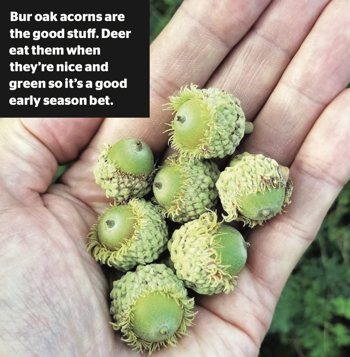
[[294,192],[287,213],[253,237],[250,268],[276,296],[350,178],[349,116],[350,90],[345,90],[317,120],[291,166]]

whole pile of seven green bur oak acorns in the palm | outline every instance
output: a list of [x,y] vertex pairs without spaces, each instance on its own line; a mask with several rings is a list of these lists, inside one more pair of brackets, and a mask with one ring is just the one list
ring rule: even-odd
[[[162,166],[135,138],[107,145],[100,155],[96,182],[115,203],[98,218],[87,245],[97,261],[127,272],[110,293],[112,325],[122,340],[149,353],[175,345],[192,325],[194,301],[185,287],[211,295],[236,285],[247,243],[223,221],[261,225],[282,212],[292,192],[289,170],[261,154],[238,155],[221,173],[210,160],[232,155],[253,130],[233,95],[186,86],[170,97],[169,109],[178,153]],[[152,183],[150,202],[142,197]],[[223,221],[213,211],[218,196]],[[170,240],[164,218],[182,224]],[[167,249],[169,257],[152,263]]]

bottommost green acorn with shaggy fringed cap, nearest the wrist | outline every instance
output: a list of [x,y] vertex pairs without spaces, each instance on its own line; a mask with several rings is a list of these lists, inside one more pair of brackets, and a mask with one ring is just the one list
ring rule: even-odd
[[122,340],[151,354],[157,348],[176,345],[177,338],[193,325],[193,298],[183,282],[164,264],[138,266],[114,281],[110,313]]

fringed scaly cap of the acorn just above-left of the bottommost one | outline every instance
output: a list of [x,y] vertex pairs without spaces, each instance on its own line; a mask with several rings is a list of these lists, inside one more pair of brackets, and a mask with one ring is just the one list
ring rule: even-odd
[[122,242],[119,250],[110,251],[99,242],[96,223],[88,235],[87,244],[88,251],[97,261],[122,271],[153,262],[166,250],[168,242],[168,228],[157,207],[143,198],[134,198],[127,204],[132,207],[136,220],[134,235]]

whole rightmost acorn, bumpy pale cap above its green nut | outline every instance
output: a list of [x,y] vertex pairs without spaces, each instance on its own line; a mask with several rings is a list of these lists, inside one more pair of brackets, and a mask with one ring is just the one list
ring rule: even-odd
[[250,227],[262,223],[290,203],[292,181],[289,169],[261,154],[248,152],[230,162],[218,179],[226,221],[243,221]]

